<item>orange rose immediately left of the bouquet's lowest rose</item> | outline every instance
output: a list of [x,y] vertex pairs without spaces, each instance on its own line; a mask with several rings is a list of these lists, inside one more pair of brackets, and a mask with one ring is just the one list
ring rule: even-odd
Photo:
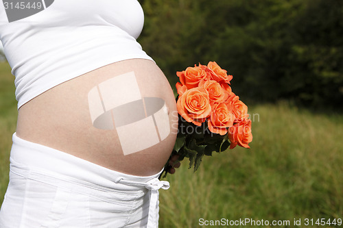
[[233,126],[233,121],[235,121],[235,115],[232,112],[231,105],[220,103],[213,107],[207,124],[210,131],[224,136],[228,132],[226,128]]

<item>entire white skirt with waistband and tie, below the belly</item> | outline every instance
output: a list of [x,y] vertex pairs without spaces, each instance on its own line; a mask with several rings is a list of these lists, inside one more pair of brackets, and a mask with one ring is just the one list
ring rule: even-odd
[[119,173],[14,133],[0,227],[158,227],[161,173]]

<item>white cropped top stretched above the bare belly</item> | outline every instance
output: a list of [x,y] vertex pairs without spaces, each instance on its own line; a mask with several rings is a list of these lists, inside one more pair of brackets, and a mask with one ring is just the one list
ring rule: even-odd
[[143,23],[137,0],[3,0],[0,40],[15,76],[18,108],[101,66],[152,60],[136,40]]

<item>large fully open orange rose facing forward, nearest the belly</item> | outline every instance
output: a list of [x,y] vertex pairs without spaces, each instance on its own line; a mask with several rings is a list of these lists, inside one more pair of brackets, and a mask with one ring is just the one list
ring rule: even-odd
[[209,93],[202,87],[191,88],[178,97],[178,114],[187,122],[201,126],[211,114]]

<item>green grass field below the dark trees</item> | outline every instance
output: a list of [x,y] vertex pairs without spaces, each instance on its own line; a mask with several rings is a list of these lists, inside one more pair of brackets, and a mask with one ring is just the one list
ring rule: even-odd
[[[16,125],[13,80],[9,66],[0,64],[0,204]],[[255,105],[250,114],[251,149],[205,157],[195,174],[182,162],[167,177],[171,188],[160,190],[160,227],[205,227],[200,218],[270,222],[259,227],[340,227],[315,223],[343,219],[343,115],[311,113],[287,102]],[[285,223],[272,226],[272,220]]]

